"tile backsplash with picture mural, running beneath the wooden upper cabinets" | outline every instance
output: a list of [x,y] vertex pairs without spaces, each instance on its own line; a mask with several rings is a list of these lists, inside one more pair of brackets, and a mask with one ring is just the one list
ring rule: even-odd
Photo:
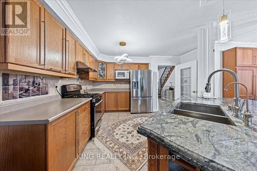
[[[0,71],[0,105],[58,95],[64,84],[81,84],[82,89],[128,89],[128,81],[77,81],[40,74]],[[58,87],[57,90],[55,87]]]

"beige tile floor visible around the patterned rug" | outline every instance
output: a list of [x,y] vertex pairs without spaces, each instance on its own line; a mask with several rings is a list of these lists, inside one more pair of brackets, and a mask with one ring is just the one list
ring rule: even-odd
[[[118,121],[121,121],[127,117],[133,115],[140,114],[131,114],[130,112],[113,112],[113,113],[104,113],[102,116],[101,126],[106,126],[108,124],[112,124]],[[73,171],[116,171],[118,170],[113,164],[112,161],[106,159],[106,155],[104,155],[100,149],[93,143],[92,140],[89,140],[86,144],[84,151],[82,152],[83,157],[77,161],[75,164]],[[139,171],[146,171],[147,163]]]

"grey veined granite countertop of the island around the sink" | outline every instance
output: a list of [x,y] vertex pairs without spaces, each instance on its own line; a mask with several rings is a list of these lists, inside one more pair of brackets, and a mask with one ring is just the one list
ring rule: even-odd
[[[257,170],[257,132],[231,116],[226,104],[231,101],[181,97],[139,125],[137,132],[201,170]],[[235,125],[172,114],[180,102],[221,106]],[[249,100],[249,106],[257,127],[257,101]]]

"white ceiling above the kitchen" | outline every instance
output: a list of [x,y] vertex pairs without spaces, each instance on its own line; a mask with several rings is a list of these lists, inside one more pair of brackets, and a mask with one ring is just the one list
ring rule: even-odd
[[[199,0],[67,2],[100,53],[120,55],[119,42],[125,41],[125,53],[142,57],[179,56],[196,49],[197,27],[216,20],[223,8],[217,0],[202,7]],[[257,1],[226,0],[225,9],[232,10],[232,33],[249,27],[257,38]]]

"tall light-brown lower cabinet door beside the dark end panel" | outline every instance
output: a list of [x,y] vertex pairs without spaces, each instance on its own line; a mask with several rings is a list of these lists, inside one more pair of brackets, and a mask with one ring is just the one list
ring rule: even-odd
[[47,124],[47,170],[69,170],[76,160],[76,113],[71,111]]

